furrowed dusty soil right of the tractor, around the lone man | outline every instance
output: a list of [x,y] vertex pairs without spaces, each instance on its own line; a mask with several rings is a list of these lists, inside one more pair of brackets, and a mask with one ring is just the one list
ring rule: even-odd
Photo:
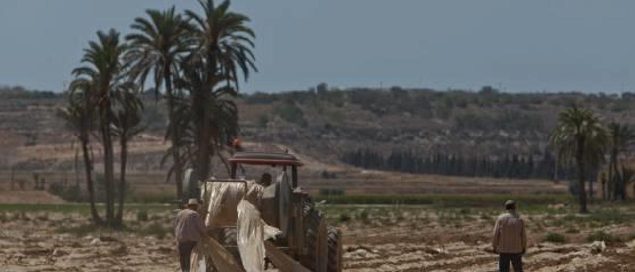
[[[362,218],[342,226],[347,271],[497,271],[490,244],[495,211],[363,210],[344,212]],[[525,271],[635,271],[632,215],[626,222],[605,213],[579,217],[564,211],[529,212]],[[598,231],[605,233],[599,240],[611,240],[599,253],[592,252],[596,246],[588,238]],[[544,241],[547,233],[563,235],[565,241]]]

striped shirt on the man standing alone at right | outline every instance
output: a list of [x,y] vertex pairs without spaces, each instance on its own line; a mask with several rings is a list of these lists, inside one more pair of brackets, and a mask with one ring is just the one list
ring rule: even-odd
[[492,246],[498,253],[521,253],[527,248],[527,235],[523,219],[511,211],[498,217],[494,226]]

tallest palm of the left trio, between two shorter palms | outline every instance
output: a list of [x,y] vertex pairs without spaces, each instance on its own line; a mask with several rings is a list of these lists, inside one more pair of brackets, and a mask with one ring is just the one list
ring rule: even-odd
[[114,155],[112,151],[113,93],[119,92],[126,83],[126,63],[123,54],[126,46],[119,39],[119,32],[97,32],[97,41],[90,41],[84,49],[83,66],[74,69],[77,78],[90,82],[93,107],[97,109],[99,132],[104,148],[104,177],[106,196],[106,224],[114,221]]

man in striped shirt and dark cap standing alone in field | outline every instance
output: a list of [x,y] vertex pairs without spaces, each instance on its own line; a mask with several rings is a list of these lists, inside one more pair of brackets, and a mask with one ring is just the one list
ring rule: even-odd
[[498,269],[500,272],[509,272],[509,263],[514,266],[514,271],[523,271],[523,254],[527,250],[527,235],[525,222],[516,214],[516,202],[505,201],[507,213],[498,217],[494,225],[494,238],[492,246],[498,253]]

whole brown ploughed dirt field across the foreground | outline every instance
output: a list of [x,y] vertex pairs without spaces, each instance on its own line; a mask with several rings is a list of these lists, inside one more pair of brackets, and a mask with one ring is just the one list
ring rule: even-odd
[[[345,271],[496,271],[489,239],[497,210],[325,209],[345,234]],[[84,206],[3,205],[0,271],[176,271],[170,207],[128,210],[128,231],[114,233],[86,228]],[[634,213],[632,205],[594,207],[586,217],[532,206],[522,215],[530,237],[526,271],[635,271]],[[564,241],[544,241],[549,233]],[[606,248],[589,239],[605,240]]]

